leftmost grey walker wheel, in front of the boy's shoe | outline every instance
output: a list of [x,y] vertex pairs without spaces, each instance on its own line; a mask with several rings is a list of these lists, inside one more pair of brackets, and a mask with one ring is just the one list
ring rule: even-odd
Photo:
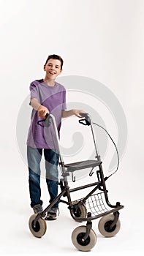
[[29,218],[29,229],[34,236],[41,238],[45,235],[45,232],[47,230],[47,224],[45,222],[45,219],[39,218],[36,222],[36,226],[34,227],[34,219],[36,216],[37,214],[33,214]]

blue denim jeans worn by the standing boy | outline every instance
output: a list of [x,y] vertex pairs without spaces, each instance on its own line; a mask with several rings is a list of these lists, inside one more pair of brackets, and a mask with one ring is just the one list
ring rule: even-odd
[[[54,149],[43,149],[45,157],[46,183],[50,194],[50,203],[58,195],[58,151]],[[27,146],[27,157],[29,165],[29,194],[31,207],[37,204],[42,206],[40,188],[40,161],[42,159],[42,148],[31,148]],[[56,202],[53,208],[58,207]]]

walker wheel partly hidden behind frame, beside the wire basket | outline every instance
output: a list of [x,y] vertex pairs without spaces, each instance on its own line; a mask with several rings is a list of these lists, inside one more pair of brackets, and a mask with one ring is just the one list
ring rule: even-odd
[[87,217],[87,209],[86,209],[86,206],[84,204],[77,208],[76,207],[77,203],[78,203],[78,201],[72,202],[72,205],[74,206],[74,208],[71,211],[72,211],[72,214],[74,214],[75,217],[77,217],[77,219],[75,219],[75,221],[76,222],[81,222],[79,220],[80,218],[86,218]]

